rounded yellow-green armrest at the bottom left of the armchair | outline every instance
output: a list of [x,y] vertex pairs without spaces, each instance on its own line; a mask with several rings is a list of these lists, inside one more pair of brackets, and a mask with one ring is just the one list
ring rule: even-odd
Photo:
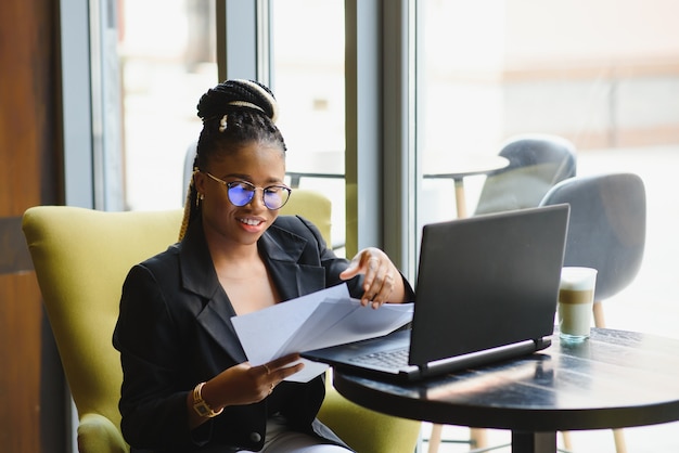
[[84,414],[78,425],[78,452],[129,453],[120,430],[100,414]]

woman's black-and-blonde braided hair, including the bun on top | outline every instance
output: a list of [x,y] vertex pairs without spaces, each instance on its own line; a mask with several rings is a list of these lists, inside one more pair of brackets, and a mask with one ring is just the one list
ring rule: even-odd
[[[203,119],[193,170],[205,170],[214,156],[227,155],[257,142],[274,145],[285,154],[283,135],[276,126],[278,104],[273,93],[254,80],[227,80],[201,96],[197,115]],[[179,240],[201,212],[193,178],[187,192]]]

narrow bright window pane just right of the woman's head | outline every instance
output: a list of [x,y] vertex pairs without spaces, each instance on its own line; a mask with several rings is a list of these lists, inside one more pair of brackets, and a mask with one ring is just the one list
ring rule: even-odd
[[290,183],[331,198],[332,241],[343,253],[344,2],[272,0],[271,23],[271,87],[281,108]]

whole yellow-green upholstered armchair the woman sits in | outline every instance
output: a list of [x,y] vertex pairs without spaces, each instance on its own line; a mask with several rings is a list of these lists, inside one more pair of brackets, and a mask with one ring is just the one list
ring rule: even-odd
[[[330,236],[330,200],[296,190],[282,213],[299,213]],[[39,206],[24,213],[30,250],[66,379],[78,412],[78,451],[120,453],[123,372],[112,335],[129,269],[177,241],[183,210],[104,212]],[[330,384],[320,417],[360,452],[412,453],[420,423],[368,411]]]

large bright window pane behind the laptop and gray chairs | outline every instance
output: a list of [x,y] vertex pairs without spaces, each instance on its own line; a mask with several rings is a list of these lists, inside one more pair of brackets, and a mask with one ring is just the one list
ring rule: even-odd
[[[644,181],[644,261],[605,305],[608,324],[672,331],[662,315],[625,319],[674,290],[679,254],[669,181],[679,168],[679,3],[669,0],[422,0],[424,49],[418,126],[424,172],[454,172],[467,155],[551,133],[576,147],[577,173],[635,172]],[[427,170],[430,169],[430,170]],[[474,215],[485,176],[464,178]],[[458,217],[451,179],[423,178],[419,223]],[[539,198],[538,198],[539,199]],[[644,311],[649,313],[649,311]],[[619,323],[614,322],[618,320]]]

